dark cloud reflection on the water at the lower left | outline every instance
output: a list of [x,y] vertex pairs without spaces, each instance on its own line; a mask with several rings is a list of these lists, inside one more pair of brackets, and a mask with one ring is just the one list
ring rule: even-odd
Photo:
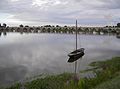
[[27,68],[24,66],[0,67],[0,85],[7,85],[25,77]]

